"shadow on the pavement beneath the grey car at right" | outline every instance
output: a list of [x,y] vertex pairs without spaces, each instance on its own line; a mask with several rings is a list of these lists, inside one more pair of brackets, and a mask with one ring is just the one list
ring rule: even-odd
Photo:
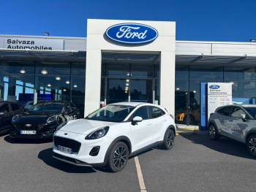
[[[185,139],[189,139],[192,143],[197,145],[203,145],[211,150],[216,150],[219,153],[225,153],[227,155],[233,155],[241,158],[256,159],[249,154],[247,147],[244,143],[238,142],[226,137],[220,137],[219,140],[211,140],[210,137],[195,134],[179,134]],[[195,146],[196,147],[196,146]]]

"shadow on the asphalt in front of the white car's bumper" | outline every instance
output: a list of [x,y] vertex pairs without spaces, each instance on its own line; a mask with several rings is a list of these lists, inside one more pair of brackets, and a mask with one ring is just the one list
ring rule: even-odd
[[53,168],[59,169],[62,172],[67,172],[67,173],[93,173],[93,172],[96,172],[91,167],[75,166],[72,164],[67,164],[63,161],[59,161],[56,158],[53,158],[53,148],[52,147],[50,147],[46,150],[41,150],[38,154],[38,158],[41,159],[42,161],[44,161],[45,164],[47,164],[48,166],[52,166]]

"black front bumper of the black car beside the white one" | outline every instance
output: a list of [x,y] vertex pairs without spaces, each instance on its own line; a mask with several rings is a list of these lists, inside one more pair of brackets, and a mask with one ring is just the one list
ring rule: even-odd
[[[39,128],[20,128],[18,123],[11,125],[10,137],[14,139],[52,139],[58,123],[45,123],[40,124]],[[37,134],[20,134],[20,131],[37,131]]]

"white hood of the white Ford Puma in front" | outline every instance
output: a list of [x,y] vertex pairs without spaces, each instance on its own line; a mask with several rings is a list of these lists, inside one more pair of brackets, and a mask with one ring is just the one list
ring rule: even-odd
[[76,134],[90,134],[92,131],[103,128],[105,126],[113,126],[118,123],[99,121],[99,120],[87,120],[78,119],[70,120],[66,126],[62,127],[59,131],[72,132]]

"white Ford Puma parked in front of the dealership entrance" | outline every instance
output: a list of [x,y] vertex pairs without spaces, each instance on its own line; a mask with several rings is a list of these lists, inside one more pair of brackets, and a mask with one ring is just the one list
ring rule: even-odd
[[164,107],[119,102],[62,123],[53,135],[53,158],[120,172],[129,156],[158,145],[170,150],[175,137],[176,124]]

